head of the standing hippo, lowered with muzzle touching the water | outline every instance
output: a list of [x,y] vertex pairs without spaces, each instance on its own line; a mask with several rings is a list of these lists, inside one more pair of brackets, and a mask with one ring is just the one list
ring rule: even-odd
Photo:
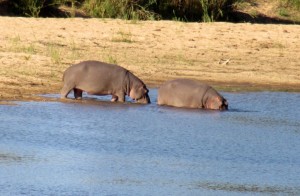
[[150,103],[149,90],[145,84],[135,85],[130,89],[129,96],[137,103]]

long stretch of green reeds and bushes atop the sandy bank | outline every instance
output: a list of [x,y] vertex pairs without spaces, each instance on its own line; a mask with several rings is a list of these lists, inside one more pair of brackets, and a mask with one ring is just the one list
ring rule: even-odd
[[[60,6],[75,9],[89,17],[133,20],[176,19],[177,21],[215,21],[226,18],[233,4],[241,0],[11,0],[16,14],[30,17],[49,16]],[[50,15],[51,15],[50,14]],[[57,14],[59,15],[59,14]]]

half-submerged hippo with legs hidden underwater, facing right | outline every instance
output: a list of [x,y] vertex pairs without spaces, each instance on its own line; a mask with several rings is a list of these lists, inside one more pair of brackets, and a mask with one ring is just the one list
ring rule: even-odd
[[190,79],[175,79],[162,84],[157,103],[185,108],[227,110],[228,103],[215,89]]

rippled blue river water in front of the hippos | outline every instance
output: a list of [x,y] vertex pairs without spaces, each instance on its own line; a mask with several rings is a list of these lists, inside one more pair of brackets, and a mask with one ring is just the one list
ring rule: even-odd
[[0,195],[300,194],[299,93],[222,93],[227,112],[156,93],[0,105]]

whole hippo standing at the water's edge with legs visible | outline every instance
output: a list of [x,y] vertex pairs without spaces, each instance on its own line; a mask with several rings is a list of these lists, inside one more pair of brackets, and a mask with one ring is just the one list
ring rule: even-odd
[[138,103],[150,103],[146,85],[127,69],[99,61],[84,61],[70,66],[63,76],[61,98],[71,90],[76,99],[85,91],[92,95],[112,95],[111,101],[124,102],[125,95]]

